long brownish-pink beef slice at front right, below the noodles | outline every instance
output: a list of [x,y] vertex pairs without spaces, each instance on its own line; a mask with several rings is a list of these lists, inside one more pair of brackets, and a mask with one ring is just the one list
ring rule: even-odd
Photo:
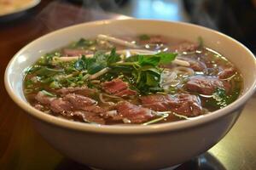
[[191,94],[151,94],[141,97],[144,107],[154,111],[174,111],[183,116],[202,114],[201,100]]

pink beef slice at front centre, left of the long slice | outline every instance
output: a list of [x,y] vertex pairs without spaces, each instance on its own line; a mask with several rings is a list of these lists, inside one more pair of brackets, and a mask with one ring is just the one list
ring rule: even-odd
[[143,108],[137,105],[133,105],[126,101],[121,101],[116,105],[117,116],[122,116],[128,119],[131,123],[146,122],[152,118],[153,111],[148,108]]

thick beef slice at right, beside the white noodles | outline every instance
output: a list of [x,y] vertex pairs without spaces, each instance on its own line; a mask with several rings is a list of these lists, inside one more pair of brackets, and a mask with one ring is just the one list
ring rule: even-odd
[[229,82],[219,80],[218,77],[194,76],[189,77],[189,81],[186,83],[186,88],[190,92],[212,95],[216,88],[224,88],[226,92],[228,92],[230,84]]

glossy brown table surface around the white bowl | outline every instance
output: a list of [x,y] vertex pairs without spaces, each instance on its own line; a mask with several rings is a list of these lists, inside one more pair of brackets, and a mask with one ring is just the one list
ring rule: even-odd
[[[0,18],[0,165],[1,169],[90,169],[62,156],[35,132],[32,123],[9,98],[3,75],[12,56],[28,42],[65,26],[124,15],[81,8],[60,1],[43,0],[18,20]],[[256,95],[245,106],[236,125],[224,139],[201,156],[184,162],[183,169],[256,169]]]

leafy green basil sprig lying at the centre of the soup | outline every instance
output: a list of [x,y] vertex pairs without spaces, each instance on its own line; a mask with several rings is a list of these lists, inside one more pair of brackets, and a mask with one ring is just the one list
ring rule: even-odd
[[131,73],[129,76],[133,79],[132,85],[136,87],[141,94],[163,92],[163,88],[160,87],[162,69],[160,69],[159,66],[172,62],[176,56],[177,54],[171,53],[135,55],[131,56],[131,59],[125,59],[125,62],[113,63],[110,65],[110,68],[112,70],[116,70],[120,66],[126,68],[126,70],[130,68]]

